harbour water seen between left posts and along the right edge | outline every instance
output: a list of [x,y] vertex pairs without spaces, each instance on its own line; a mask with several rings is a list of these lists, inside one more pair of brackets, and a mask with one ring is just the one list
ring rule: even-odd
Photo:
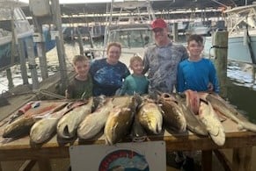
[[[67,54],[66,63],[70,66],[71,59],[74,55],[79,53],[77,43],[65,45]],[[100,44],[98,44],[100,46]],[[87,46],[89,48],[89,46]],[[57,51],[54,48],[47,54],[48,59],[48,74],[53,75],[58,69]],[[37,62],[39,64],[39,62]],[[254,69],[256,70],[256,69]],[[20,69],[18,66],[11,68],[13,82],[15,85],[21,84]],[[29,71],[29,70],[28,70]],[[256,82],[255,75],[253,75],[253,67],[251,65],[238,64],[230,62],[228,66],[228,100],[231,104],[238,107],[238,110],[243,110],[249,120],[256,124]],[[28,75],[30,75],[28,73]],[[40,69],[38,69],[40,76]],[[41,81],[41,78],[39,78]],[[29,80],[32,83],[31,80]],[[5,72],[0,72],[0,92],[8,90],[8,81]]]

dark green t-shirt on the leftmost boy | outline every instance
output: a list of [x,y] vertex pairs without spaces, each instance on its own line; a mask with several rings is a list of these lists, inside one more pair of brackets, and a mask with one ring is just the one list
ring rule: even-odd
[[69,83],[67,89],[69,98],[89,98],[92,96],[92,80],[91,75],[85,81],[77,80],[76,77]]

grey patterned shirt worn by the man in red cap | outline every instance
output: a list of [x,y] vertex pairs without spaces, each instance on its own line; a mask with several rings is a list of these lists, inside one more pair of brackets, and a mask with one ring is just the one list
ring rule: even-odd
[[148,72],[149,93],[155,91],[171,93],[177,82],[177,70],[180,61],[188,58],[184,46],[173,44],[149,46],[143,58],[144,71]]

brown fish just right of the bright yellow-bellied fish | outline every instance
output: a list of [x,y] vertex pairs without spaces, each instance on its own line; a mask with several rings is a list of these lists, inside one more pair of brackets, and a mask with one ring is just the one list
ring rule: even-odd
[[185,132],[187,130],[187,121],[174,96],[163,93],[158,102],[161,103],[161,109],[164,111],[162,113],[165,127],[175,132]]

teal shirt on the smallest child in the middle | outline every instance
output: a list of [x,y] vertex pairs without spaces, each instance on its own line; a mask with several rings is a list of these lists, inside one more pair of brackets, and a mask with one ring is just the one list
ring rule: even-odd
[[120,95],[140,95],[148,93],[149,80],[144,75],[128,75],[120,89]]

